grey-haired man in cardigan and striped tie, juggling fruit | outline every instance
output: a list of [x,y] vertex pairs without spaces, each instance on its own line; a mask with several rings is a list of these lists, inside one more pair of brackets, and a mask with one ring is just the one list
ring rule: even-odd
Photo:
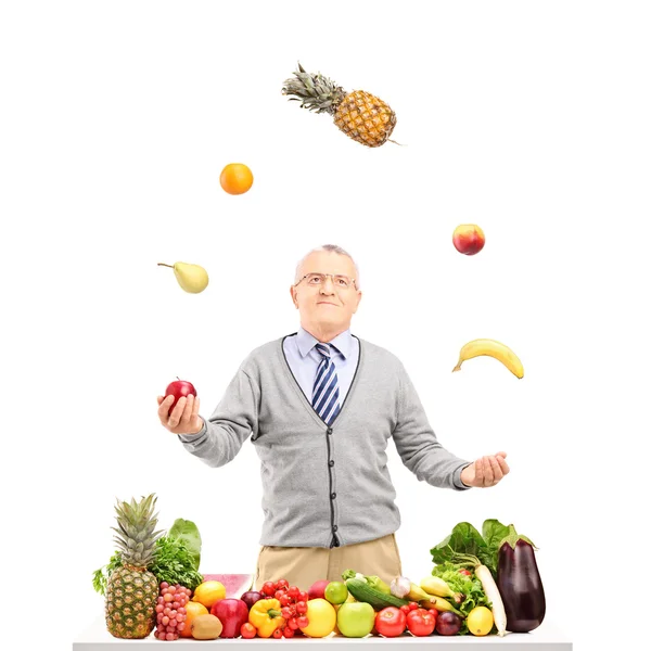
[[359,273],[341,247],[308,253],[292,301],[298,332],[253,350],[213,416],[200,399],[158,396],[163,425],[210,467],[231,461],[248,436],[261,462],[265,521],[255,587],[285,578],[307,590],[344,570],[401,575],[400,515],[386,467],[393,437],[419,481],[467,490],[497,484],[506,452],[474,462],[436,439],[401,362],[350,334],[361,299]]

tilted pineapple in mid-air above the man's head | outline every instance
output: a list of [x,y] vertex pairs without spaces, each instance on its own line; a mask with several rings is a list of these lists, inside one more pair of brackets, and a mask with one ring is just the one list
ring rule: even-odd
[[[321,73],[306,73],[301,63],[294,73],[296,78],[286,79],[282,94],[295,95],[302,108],[334,116],[334,124],[349,138],[367,146],[384,144],[396,126],[396,114],[386,102],[367,92],[346,92]],[[391,140],[390,142],[394,142]]]

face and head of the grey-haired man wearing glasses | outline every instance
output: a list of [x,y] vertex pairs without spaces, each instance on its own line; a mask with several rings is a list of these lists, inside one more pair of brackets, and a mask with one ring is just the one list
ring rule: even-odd
[[350,319],[357,311],[361,292],[356,284],[344,289],[335,282],[334,276],[356,278],[355,265],[347,255],[333,251],[315,251],[303,263],[298,270],[301,280],[306,273],[331,273],[324,282],[314,285],[304,279],[292,286],[292,299],[301,312],[301,323],[304,328],[317,327],[328,330],[337,329],[343,332],[350,327]]

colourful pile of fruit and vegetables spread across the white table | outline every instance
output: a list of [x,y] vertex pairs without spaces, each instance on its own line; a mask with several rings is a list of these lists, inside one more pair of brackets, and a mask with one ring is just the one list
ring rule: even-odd
[[528,633],[545,617],[534,544],[486,520],[480,533],[457,524],[431,549],[434,567],[418,584],[346,570],[305,590],[283,578],[253,589],[252,574],[200,572],[196,525],[177,519],[155,531],[156,497],[117,503],[117,550],[93,574],[117,638],[362,638]]

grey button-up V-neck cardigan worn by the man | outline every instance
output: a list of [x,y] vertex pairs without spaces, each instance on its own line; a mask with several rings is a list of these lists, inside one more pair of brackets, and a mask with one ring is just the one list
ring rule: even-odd
[[357,371],[329,427],[294,379],[283,339],[253,350],[201,432],[179,436],[214,468],[231,461],[251,436],[260,459],[260,545],[339,547],[397,531],[391,437],[419,481],[468,489],[460,474],[470,461],[438,443],[395,355],[359,340]]

